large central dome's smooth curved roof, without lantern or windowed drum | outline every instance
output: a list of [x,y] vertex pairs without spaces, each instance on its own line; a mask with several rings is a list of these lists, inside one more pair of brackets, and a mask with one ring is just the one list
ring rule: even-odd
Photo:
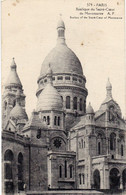
[[53,74],[74,73],[83,75],[79,59],[65,44],[57,44],[47,55],[42,64],[40,76],[46,75],[49,64],[51,64]]

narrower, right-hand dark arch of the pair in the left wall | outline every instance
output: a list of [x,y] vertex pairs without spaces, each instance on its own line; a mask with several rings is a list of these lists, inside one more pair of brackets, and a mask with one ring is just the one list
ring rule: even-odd
[[23,155],[18,155],[18,190],[23,190]]

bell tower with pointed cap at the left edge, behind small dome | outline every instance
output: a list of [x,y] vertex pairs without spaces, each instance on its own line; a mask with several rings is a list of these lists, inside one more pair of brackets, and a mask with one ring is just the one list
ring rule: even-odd
[[9,118],[10,111],[16,105],[16,94],[20,93],[19,104],[22,108],[25,107],[25,95],[23,86],[17,74],[17,65],[14,58],[10,66],[10,73],[4,85],[4,94],[2,97],[2,121],[3,128]]

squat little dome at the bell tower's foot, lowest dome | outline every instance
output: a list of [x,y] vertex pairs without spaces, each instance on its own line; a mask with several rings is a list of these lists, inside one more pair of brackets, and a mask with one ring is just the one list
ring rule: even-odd
[[10,112],[10,118],[14,119],[28,119],[28,116],[25,112],[25,109],[23,109],[19,103],[16,103],[15,107]]

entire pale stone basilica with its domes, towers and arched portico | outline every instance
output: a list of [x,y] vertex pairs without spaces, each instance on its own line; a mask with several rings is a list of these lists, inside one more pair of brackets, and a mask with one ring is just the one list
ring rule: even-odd
[[38,77],[31,117],[13,58],[2,96],[2,186],[5,194],[53,189],[126,189],[126,122],[112,96],[94,111],[80,60],[57,24],[57,43]]

